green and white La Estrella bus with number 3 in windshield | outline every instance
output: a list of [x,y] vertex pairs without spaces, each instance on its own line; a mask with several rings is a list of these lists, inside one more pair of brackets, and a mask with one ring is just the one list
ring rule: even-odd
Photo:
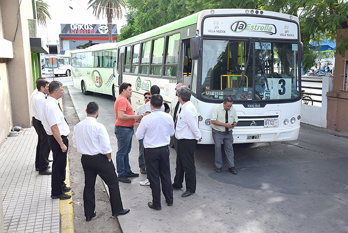
[[211,114],[226,96],[239,122],[234,143],[296,140],[301,87],[298,18],[252,10],[203,10],[118,43],[117,87],[132,84],[131,104],[160,87],[166,108],[177,83],[189,86],[200,106],[201,144],[214,144]]

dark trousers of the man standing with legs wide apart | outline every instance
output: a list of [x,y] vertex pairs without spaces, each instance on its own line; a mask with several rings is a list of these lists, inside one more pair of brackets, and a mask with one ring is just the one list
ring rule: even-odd
[[83,204],[84,216],[92,216],[95,209],[95,180],[99,175],[107,184],[110,193],[110,204],[112,214],[123,210],[118,177],[113,162],[107,160],[106,155],[82,155],[81,164],[84,171]]

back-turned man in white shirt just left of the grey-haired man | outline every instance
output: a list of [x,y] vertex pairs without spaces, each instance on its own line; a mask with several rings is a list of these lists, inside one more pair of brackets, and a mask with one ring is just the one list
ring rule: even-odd
[[142,118],[136,138],[143,139],[147,176],[152,190],[150,208],[161,210],[161,184],[165,202],[173,205],[173,187],[170,179],[169,148],[170,136],[174,135],[174,123],[170,115],[161,111],[163,98],[159,94],[151,96],[150,115]]

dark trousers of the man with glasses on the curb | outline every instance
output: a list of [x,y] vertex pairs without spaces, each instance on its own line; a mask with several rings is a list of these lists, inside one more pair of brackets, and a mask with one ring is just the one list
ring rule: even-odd
[[[66,136],[61,136],[63,143],[66,147],[69,147],[69,141]],[[63,188],[66,186],[65,180],[65,168],[66,168],[66,154],[60,148],[57,140],[55,140],[53,135],[48,136],[48,143],[50,144],[53,153],[53,163],[52,163],[52,195],[58,196],[64,194]]]

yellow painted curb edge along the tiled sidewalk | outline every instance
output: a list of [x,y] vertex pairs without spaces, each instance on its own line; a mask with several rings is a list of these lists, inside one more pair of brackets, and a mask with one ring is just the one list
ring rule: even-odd
[[[66,156],[66,175],[65,183],[67,187],[70,187],[70,175],[69,175],[69,159]],[[66,194],[71,195],[71,190]],[[61,233],[74,233],[74,208],[73,208],[73,196],[68,200],[60,200],[60,215],[61,215]]]

